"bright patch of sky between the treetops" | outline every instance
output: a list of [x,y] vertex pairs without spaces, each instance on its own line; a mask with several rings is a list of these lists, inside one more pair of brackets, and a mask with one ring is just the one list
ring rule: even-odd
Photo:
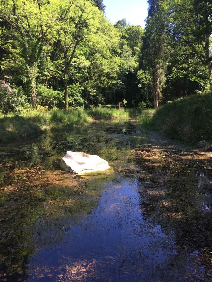
[[126,18],[127,23],[141,25],[144,28],[147,17],[147,0],[104,0],[106,17],[115,24]]

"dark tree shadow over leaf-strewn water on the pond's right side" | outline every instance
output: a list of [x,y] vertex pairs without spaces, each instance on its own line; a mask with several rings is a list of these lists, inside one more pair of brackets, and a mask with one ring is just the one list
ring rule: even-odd
[[[136,152],[141,168],[140,210],[146,220],[175,234],[178,256],[196,257],[199,278],[211,275],[212,162],[209,154],[167,141],[150,141]],[[177,258],[176,258],[177,259]],[[204,267],[204,271],[201,269]],[[198,276],[197,276],[198,277]],[[190,278],[191,279],[191,278]]]

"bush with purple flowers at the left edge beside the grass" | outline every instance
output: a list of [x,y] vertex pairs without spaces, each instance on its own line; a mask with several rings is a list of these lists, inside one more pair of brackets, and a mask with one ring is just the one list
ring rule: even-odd
[[8,112],[19,113],[25,108],[29,108],[27,97],[23,94],[22,87],[12,89],[9,83],[4,80],[0,81],[0,112],[3,114]]

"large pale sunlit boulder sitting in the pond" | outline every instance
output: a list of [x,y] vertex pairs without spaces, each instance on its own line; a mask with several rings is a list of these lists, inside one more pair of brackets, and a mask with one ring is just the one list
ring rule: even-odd
[[66,152],[60,166],[67,172],[75,172],[77,174],[104,171],[110,168],[106,160],[83,152]]

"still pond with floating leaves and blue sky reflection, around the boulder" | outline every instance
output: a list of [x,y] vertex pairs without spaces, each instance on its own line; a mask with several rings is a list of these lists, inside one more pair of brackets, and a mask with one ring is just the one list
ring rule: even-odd
[[[0,281],[209,281],[211,166],[155,136],[119,120],[2,144]],[[66,151],[111,169],[65,173]]]

